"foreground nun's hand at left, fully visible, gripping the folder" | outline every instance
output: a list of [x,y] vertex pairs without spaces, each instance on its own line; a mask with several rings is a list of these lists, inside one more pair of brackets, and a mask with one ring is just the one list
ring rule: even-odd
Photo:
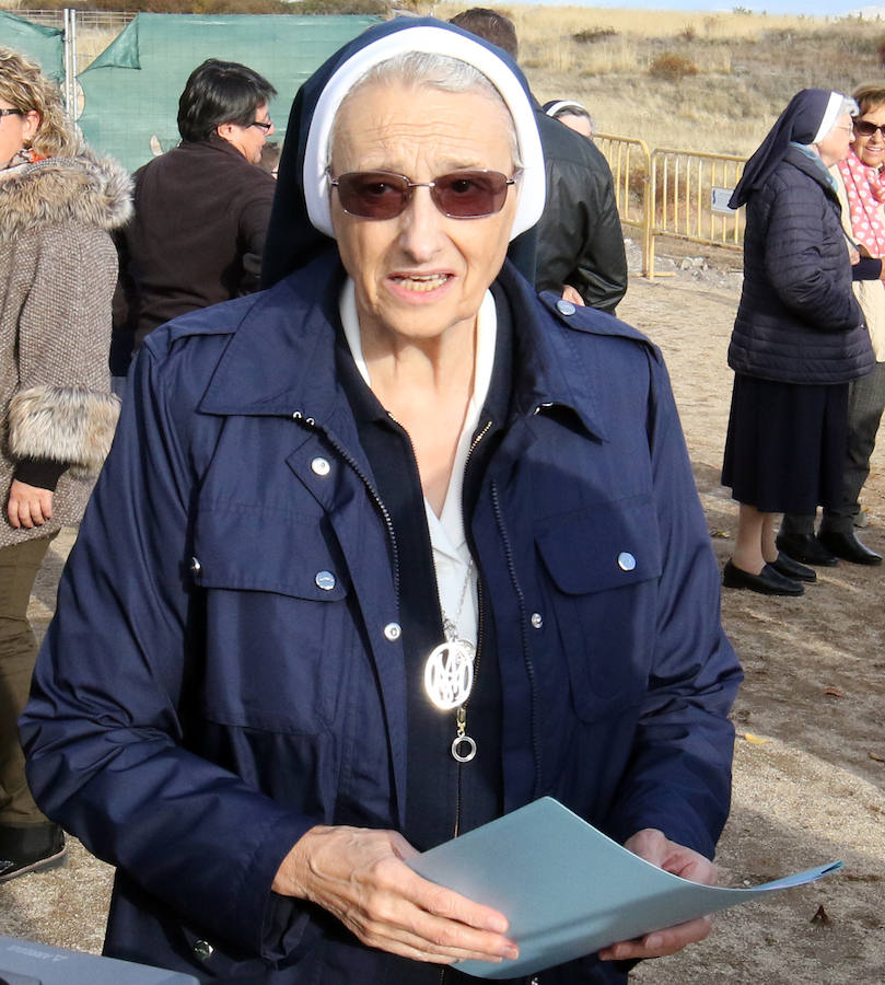
[[393,831],[312,827],[273,879],[273,891],[329,911],[365,945],[451,964],[516,958],[506,918],[435,885],[404,861],[417,855]]

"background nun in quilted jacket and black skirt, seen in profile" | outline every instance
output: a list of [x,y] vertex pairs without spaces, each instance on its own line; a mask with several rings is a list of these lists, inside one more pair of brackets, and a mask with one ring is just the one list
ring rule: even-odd
[[731,199],[747,206],[744,288],[729,346],[735,372],[722,483],[741,503],[724,584],[800,595],[813,569],[776,540],[779,512],[838,503],[848,384],[873,368],[827,169],[851,147],[857,106],[806,89],[749,159]]

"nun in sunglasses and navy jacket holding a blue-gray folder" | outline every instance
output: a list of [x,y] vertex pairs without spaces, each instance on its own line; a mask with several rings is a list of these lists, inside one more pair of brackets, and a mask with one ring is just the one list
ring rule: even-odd
[[544,795],[710,881],[719,572],[660,352],[505,263],[544,205],[519,69],[379,25],[300,90],[279,188],[271,287],[136,360],[22,719],[36,796],[118,867],[105,952],[466,982],[505,915],[405,859]]

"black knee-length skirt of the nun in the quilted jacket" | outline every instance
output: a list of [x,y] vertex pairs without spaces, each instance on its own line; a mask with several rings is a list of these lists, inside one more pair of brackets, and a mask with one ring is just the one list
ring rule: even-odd
[[814,513],[841,501],[848,383],[735,374],[722,485],[764,513]]

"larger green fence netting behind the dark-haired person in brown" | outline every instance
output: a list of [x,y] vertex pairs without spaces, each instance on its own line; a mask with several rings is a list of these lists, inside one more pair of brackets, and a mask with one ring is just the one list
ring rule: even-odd
[[86,140],[136,167],[179,140],[178,96],[207,58],[240,61],[279,95],[270,104],[282,141],[295,92],[346,42],[379,23],[372,16],[140,13],[78,79]]

